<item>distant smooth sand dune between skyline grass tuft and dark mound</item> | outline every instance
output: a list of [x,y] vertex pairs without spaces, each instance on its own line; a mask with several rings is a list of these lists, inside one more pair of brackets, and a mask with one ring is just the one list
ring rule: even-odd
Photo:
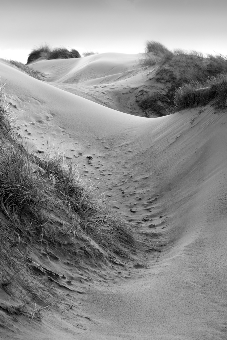
[[57,88],[94,101],[102,106],[136,116],[145,114],[137,104],[141,91],[157,86],[150,72],[144,72],[139,54],[101,53],[71,60],[47,60],[30,64],[46,74]]

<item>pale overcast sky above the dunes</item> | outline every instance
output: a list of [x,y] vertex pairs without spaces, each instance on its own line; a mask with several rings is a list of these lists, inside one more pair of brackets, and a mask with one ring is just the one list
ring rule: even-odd
[[169,49],[227,55],[226,0],[7,0],[1,4],[0,57],[27,62],[42,43],[94,52]]

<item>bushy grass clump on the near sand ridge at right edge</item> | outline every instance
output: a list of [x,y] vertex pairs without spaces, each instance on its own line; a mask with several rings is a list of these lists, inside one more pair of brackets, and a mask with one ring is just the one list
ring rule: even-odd
[[205,82],[183,84],[176,89],[174,97],[178,111],[205,106],[209,103],[212,103],[218,110],[225,109],[227,107],[227,73],[213,76]]

